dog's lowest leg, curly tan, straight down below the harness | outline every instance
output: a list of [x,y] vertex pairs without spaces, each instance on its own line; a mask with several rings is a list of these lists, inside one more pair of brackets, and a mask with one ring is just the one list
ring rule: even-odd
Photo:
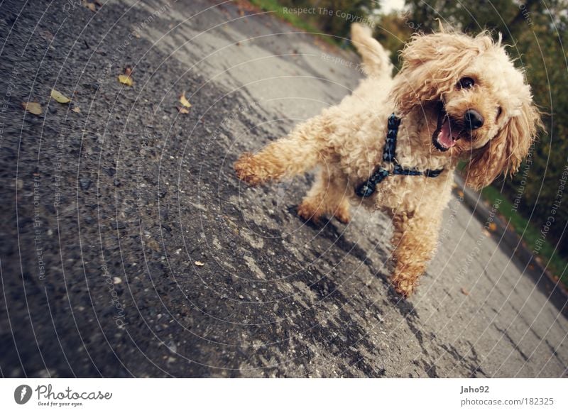
[[392,282],[396,292],[409,297],[418,286],[436,248],[441,216],[420,216],[403,212],[393,216]]

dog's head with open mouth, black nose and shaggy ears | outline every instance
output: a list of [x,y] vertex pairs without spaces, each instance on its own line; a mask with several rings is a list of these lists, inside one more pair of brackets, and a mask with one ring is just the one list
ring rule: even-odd
[[416,35],[402,57],[397,111],[427,118],[422,133],[431,150],[469,160],[466,182],[474,188],[516,172],[542,123],[501,40],[486,33]]

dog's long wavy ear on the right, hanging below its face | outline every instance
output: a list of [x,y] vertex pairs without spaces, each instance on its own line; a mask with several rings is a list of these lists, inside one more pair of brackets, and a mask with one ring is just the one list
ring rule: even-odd
[[513,175],[517,172],[539,128],[544,129],[540,111],[532,102],[524,102],[497,136],[472,154],[465,170],[466,185],[481,189],[501,173]]

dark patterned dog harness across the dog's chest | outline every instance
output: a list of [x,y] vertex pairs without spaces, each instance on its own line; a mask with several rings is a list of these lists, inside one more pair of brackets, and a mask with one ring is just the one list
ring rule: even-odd
[[400,125],[400,118],[395,114],[388,116],[388,132],[386,134],[385,148],[383,149],[383,162],[393,163],[394,167],[392,172],[386,170],[383,167],[378,167],[378,169],[373,172],[366,182],[363,182],[359,187],[355,189],[355,193],[362,198],[370,197],[373,192],[375,192],[376,185],[382,182],[388,175],[425,175],[427,177],[435,178],[441,174],[444,169],[437,170],[425,170],[420,172],[415,169],[404,169],[398,165],[395,159],[396,152],[396,136],[398,134],[398,126]]

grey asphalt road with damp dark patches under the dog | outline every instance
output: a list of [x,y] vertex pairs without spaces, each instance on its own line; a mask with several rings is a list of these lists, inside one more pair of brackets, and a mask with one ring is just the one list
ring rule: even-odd
[[387,216],[307,225],[312,176],[234,177],[354,89],[354,53],[230,3],[104,3],[0,4],[2,376],[567,377],[565,299],[459,197],[402,301]]

